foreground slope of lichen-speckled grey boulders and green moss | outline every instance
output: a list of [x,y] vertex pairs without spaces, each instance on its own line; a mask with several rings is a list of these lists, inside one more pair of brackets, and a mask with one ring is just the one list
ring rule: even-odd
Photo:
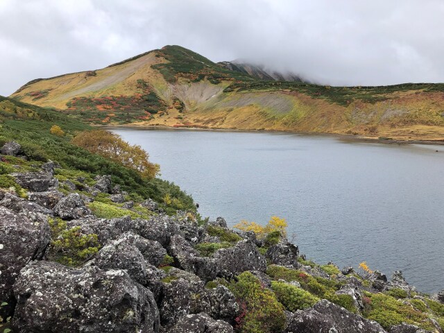
[[[1,163],[19,151],[5,144]],[[62,180],[33,163],[10,173],[24,192],[0,189],[2,332],[443,332],[444,291],[399,271],[320,266],[284,234],[169,215],[110,175]],[[97,216],[99,200],[128,214]]]

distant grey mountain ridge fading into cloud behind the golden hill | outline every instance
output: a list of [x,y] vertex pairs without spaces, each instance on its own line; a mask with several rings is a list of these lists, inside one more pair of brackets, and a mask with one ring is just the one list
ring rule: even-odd
[[291,72],[274,71],[267,69],[261,65],[253,65],[244,60],[222,61],[218,65],[230,69],[230,71],[239,71],[240,73],[249,74],[259,80],[276,80],[276,81],[293,81],[293,82],[307,82],[300,76]]

